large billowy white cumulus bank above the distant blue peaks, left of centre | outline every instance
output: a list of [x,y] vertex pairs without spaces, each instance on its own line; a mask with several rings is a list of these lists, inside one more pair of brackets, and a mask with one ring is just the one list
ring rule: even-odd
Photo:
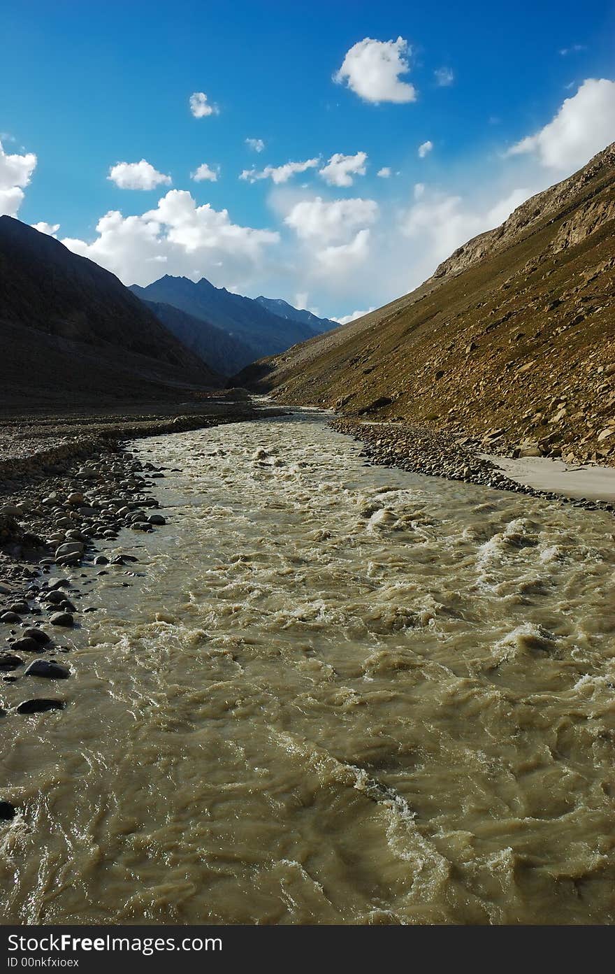
[[139,216],[111,210],[98,221],[96,239],[62,241],[126,283],[149,283],[161,274],[212,277],[231,284],[248,280],[279,241],[271,230],[232,222],[227,209],[197,206],[185,190],[169,190],[155,209]]

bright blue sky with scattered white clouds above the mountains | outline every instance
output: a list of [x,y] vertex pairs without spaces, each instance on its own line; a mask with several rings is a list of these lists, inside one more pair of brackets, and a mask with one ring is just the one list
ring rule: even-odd
[[[57,0],[3,22],[4,209],[127,283],[205,276],[343,317],[416,285],[615,138],[612,3]],[[217,111],[195,117],[194,93]],[[36,164],[6,163],[19,154]],[[108,178],[141,160],[165,181]],[[202,164],[215,181],[191,178]],[[122,216],[96,230],[109,211]]]

